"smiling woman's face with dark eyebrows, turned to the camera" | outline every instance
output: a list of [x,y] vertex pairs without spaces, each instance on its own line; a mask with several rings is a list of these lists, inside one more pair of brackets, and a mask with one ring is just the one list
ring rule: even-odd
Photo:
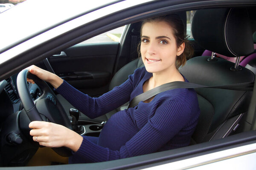
[[177,48],[171,26],[164,21],[144,23],[141,35],[140,52],[148,72],[176,69],[176,56],[181,55],[184,48]]

